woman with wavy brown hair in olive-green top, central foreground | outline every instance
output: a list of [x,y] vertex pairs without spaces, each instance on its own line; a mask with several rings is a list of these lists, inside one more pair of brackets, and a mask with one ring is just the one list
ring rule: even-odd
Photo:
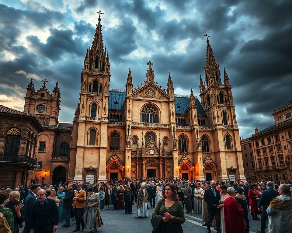
[[186,221],[185,213],[176,187],[172,183],[165,184],[162,199],[156,204],[151,217],[154,228],[157,228],[159,224],[159,229],[162,230],[159,232],[183,233],[181,224]]

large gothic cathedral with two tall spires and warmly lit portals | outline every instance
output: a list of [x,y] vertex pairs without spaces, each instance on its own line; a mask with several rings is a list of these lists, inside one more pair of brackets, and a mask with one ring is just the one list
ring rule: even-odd
[[167,89],[154,80],[133,88],[109,89],[109,54],[103,47],[101,18],[81,72],[80,103],[73,120],[68,181],[106,181],[123,177],[182,177],[245,180],[240,138],[229,78],[207,38],[205,84],[200,100],[175,95],[170,73]]

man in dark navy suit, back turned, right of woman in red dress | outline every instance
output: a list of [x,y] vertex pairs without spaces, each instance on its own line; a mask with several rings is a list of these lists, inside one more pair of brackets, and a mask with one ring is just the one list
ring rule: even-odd
[[265,233],[266,230],[266,221],[268,219],[267,214],[267,208],[270,204],[270,201],[272,201],[273,198],[278,196],[278,191],[274,189],[274,183],[272,181],[267,182],[267,190],[262,192],[262,197],[259,200],[259,211],[260,208],[262,208],[262,219],[261,219],[261,229],[258,229],[257,231],[260,233]]

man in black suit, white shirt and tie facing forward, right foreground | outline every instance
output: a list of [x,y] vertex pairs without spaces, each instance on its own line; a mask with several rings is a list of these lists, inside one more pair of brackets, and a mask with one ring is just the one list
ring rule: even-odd
[[211,233],[211,223],[216,219],[216,229],[217,233],[221,233],[220,228],[220,209],[218,209],[220,192],[216,189],[216,181],[211,181],[211,187],[207,188],[204,194],[204,201],[207,202],[207,211],[208,211],[208,221],[207,221],[207,230],[208,233]]

